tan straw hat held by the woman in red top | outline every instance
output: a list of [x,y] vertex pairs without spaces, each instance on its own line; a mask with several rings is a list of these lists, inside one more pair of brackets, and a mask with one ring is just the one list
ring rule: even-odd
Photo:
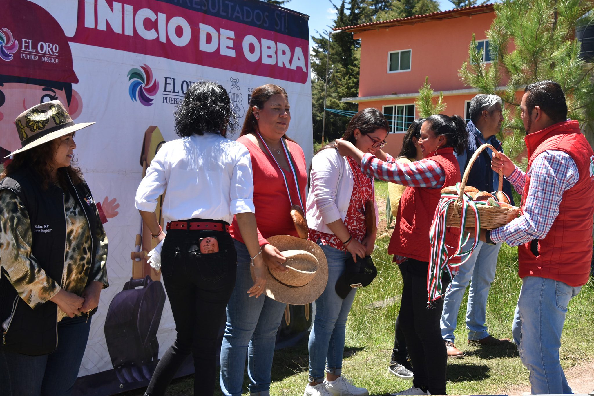
[[[275,235],[267,240],[287,259],[284,263],[287,271],[264,268],[264,293],[273,300],[292,305],[317,300],[328,282],[328,262],[320,246],[290,235]],[[254,267],[250,267],[250,271],[254,278]]]

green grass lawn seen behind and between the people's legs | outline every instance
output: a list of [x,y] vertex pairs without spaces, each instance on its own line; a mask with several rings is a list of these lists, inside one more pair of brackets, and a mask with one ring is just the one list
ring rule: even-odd
[[[378,201],[387,195],[384,182],[376,182]],[[384,198],[385,199],[385,198]],[[378,202],[384,216],[386,202]],[[386,230],[378,230],[382,235]],[[391,233],[391,232],[390,232]],[[394,342],[394,319],[400,307],[402,278],[387,254],[389,236],[377,240],[373,258],[378,276],[373,283],[357,291],[346,330],[343,373],[371,395],[400,391],[412,385],[388,373]],[[504,245],[498,259],[497,274],[487,303],[490,334],[511,338],[511,322],[520,292],[517,276],[517,248]],[[394,298],[390,298],[394,297]],[[386,300],[381,308],[371,303]],[[467,293],[462,301],[456,330],[456,346],[466,353],[464,359],[448,360],[448,394],[500,394],[511,385],[527,385],[528,371],[520,362],[514,346],[501,350],[468,346],[465,326]],[[582,292],[571,300],[561,338],[561,365],[565,369],[594,356],[594,284],[590,279]],[[377,306],[380,304],[375,304]],[[308,381],[307,340],[298,346],[276,351],[271,395],[299,396]],[[169,395],[192,394],[193,376],[178,379],[169,387]],[[249,380],[245,377],[245,384]],[[246,394],[247,388],[245,389]],[[131,393],[140,395],[141,392]],[[220,393],[219,393],[220,394]]]

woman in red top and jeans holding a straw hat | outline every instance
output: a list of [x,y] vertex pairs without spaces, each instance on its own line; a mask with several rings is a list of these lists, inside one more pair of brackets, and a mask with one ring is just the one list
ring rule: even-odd
[[[282,87],[266,84],[255,88],[237,140],[248,148],[251,157],[261,255],[264,264],[278,270],[284,268],[285,258],[266,238],[273,235],[299,237],[290,217],[290,207],[305,206],[307,183],[303,151],[286,136],[290,119],[289,100]],[[237,275],[227,306],[227,326],[221,346],[221,390],[226,396],[241,396],[247,354],[249,392],[267,396],[276,331],[286,304],[265,294],[257,299],[249,298],[248,289],[254,284],[249,273],[250,255],[235,220],[230,233],[235,239]]]

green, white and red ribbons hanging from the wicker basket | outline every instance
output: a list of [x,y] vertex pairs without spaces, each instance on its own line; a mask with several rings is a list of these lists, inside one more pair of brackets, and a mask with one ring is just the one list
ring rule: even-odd
[[[460,192],[460,183],[456,183],[456,191]],[[435,214],[433,216],[433,222],[431,229],[429,230],[429,242],[431,243],[431,252],[429,254],[429,268],[427,273],[427,292],[429,293],[429,300],[427,306],[430,306],[432,302],[443,297],[445,292],[443,291],[443,284],[441,282],[441,276],[444,271],[447,271],[450,278],[452,278],[451,268],[459,267],[469,259],[470,254],[476,248],[479,242],[480,230],[481,230],[481,219],[479,218],[479,211],[477,205],[481,205],[479,202],[472,201],[468,195],[462,195],[462,214],[460,216],[460,237],[458,238],[458,246],[456,252],[453,255],[448,254],[448,248],[452,249],[454,246],[448,246],[445,243],[445,235],[447,231],[447,218],[450,210],[453,210],[453,203],[458,198],[458,195],[454,194],[441,194],[440,201],[435,208]],[[450,205],[451,204],[451,205]],[[475,237],[467,251],[464,250],[464,246],[470,239],[470,233],[466,232],[465,224],[466,219],[469,216],[475,217]],[[461,258],[462,261],[456,264],[450,264],[450,261],[454,258]]]

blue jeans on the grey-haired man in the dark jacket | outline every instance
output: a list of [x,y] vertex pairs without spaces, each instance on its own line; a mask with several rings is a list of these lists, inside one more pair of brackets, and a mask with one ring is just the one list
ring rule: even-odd
[[468,261],[458,267],[459,272],[444,296],[444,310],[440,322],[441,338],[444,340],[451,342],[456,340],[454,330],[456,330],[458,311],[469,282],[470,290],[466,306],[468,339],[481,340],[489,335],[486,330],[486,299],[495,278],[499,249],[501,249],[501,242],[497,245],[479,242]]

